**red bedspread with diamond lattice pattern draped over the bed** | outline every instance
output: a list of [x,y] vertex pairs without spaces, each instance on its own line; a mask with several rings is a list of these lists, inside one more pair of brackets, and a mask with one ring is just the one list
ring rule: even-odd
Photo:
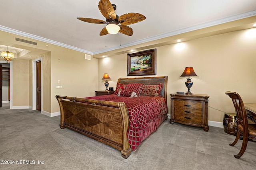
[[[89,99],[124,102],[129,112],[130,126],[127,131],[128,142],[132,150],[141,144],[139,132],[148,126],[149,121],[167,113],[166,101],[160,96],[139,96],[136,98],[117,95],[89,97]],[[154,131],[156,131],[154,126]]]

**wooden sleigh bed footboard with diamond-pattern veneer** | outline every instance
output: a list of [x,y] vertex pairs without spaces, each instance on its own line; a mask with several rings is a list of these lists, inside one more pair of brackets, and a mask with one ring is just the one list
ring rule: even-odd
[[110,102],[56,95],[60,106],[60,129],[65,127],[121,150],[128,158],[128,110],[124,102]]

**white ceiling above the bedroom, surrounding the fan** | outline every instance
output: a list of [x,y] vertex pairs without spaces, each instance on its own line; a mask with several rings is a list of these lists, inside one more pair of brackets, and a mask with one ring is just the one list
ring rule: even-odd
[[100,36],[104,24],[76,19],[105,20],[98,2],[0,0],[0,30],[98,54],[182,33],[184,29],[192,31],[256,15],[256,0],[110,0],[116,4],[118,16],[136,12],[146,16],[146,20],[129,25],[134,31],[132,36]]

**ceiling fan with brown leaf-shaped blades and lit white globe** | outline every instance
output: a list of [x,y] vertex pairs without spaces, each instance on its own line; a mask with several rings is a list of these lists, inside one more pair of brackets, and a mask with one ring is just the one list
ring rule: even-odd
[[128,13],[122,16],[116,15],[116,5],[111,4],[109,0],[100,0],[98,7],[101,14],[106,18],[106,21],[92,18],[77,19],[89,23],[107,24],[106,27],[104,27],[100,31],[100,35],[107,35],[108,33],[116,34],[120,32],[125,35],[131,36],[133,34],[133,30],[127,25],[137,23],[146,19],[144,15],[139,13]]

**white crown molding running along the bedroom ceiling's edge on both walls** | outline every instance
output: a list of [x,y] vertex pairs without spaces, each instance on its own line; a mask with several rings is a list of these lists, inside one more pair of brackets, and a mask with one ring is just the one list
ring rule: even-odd
[[220,20],[205,22],[205,23],[202,23],[202,24],[198,24],[198,25],[194,25],[194,26],[191,26],[191,27],[178,29],[178,30],[171,31],[171,32],[168,32],[168,33],[163,33],[163,34],[160,34],[160,35],[156,35],[156,36],[153,36],[153,37],[140,39],[138,41],[134,41],[134,42],[131,42],[131,43],[126,43],[126,44],[123,44],[121,46],[111,47],[111,48],[108,48],[108,49],[104,49],[104,50],[100,50],[100,51],[94,51],[94,52],[87,51],[87,50],[84,50],[84,49],[80,49],[80,48],[77,48],[77,47],[73,47],[71,45],[67,45],[67,44],[60,43],[60,42],[57,42],[57,41],[53,41],[53,40],[50,40],[50,39],[46,39],[46,38],[43,38],[43,37],[39,37],[37,35],[32,35],[32,34],[29,34],[29,33],[25,33],[25,32],[22,32],[22,31],[18,31],[18,30],[15,30],[15,29],[4,27],[2,25],[0,25],[0,30],[1,31],[6,31],[8,33],[13,33],[13,34],[16,34],[16,35],[21,35],[21,36],[24,36],[24,37],[28,37],[28,38],[31,38],[31,39],[36,39],[38,41],[43,41],[43,42],[46,42],[46,43],[58,45],[60,47],[65,47],[65,48],[72,49],[72,50],[75,50],[75,51],[80,51],[82,53],[87,53],[87,54],[90,54],[90,55],[96,55],[96,54],[105,53],[105,52],[108,52],[108,51],[112,51],[112,50],[116,50],[116,49],[120,49],[120,48],[124,48],[124,47],[129,47],[129,46],[132,46],[132,45],[147,43],[149,41],[154,41],[154,40],[157,40],[157,39],[162,39],[162,38],[170,37],[170,36],[173,36],[173,35],[178,35],[178,34],[186,33],[186,32],[189,32],[189,31],[194,31],[194,30],[197,30],[197,29],[202,29],[202,28],[205,28],[205,27],[210,27],[210,26],[214,26],[214,25],[218,25],[218,24],[222,24],[222,23],[226,23],[226,22],[230,22],[230,21],[240,20],[240,19],[248,18],[248,17],[252,17],[252,16],[256,16],[256,10],[253,10],[253,11],[250,11],[250,12],[245,12],[245,13],[234,15],[234,16],[230,16],[230,17],[226,17],[226,18],[222,18]]

